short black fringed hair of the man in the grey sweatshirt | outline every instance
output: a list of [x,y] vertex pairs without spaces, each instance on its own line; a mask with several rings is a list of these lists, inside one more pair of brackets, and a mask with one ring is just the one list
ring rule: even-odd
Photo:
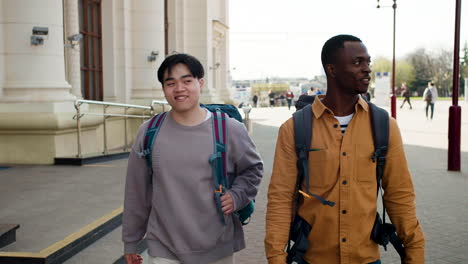
[[172,71],[172,68],[174,68],[174,66],[179,63],[182,63],[185,66],[187,66],[193,77],[201,79],[203,78],[203,76],[205,76],[205,70],[203,69],[203,65],[197,58],[189,54],[177,53],[168,56],[163,61],[163,63],[161,63],[161,66],[159,66],[158,80],[161,84],[164,84],[163,78],[166,70],[168,71],[168,73],[170,73]]

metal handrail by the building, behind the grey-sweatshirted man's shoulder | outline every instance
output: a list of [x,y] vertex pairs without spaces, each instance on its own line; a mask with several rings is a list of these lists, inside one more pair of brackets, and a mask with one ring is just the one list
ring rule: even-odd
[[[101,113],[82,113],[81,112],[81,105],[82,104],[90,104],[90,105],[102,105],[102,114]],[[107,148],[107,122],[106,120],[110,117],[124,117],[124,146],[123,150],[127,151],[128,149],[128,135],[127,135],[127,123],[128,123],[128,118],[151,118],[154,115],[154,106],[155,105],[161,105],[162,110],[165,111],[165,106],[167,105],[166,101],[160,101],[160,100],[153,100],[151,101],[150,106],[143,106],[143,105],[132,105],[132,104],[119,104],[119,103],[111,103],[111,102],[101,102],[101,101],[93,101],[93,100],[76,100],[75,101],[75,109],[76,109],[76,115],[73,117],[73,119],[76,119],[76,128],[77,128],[77,147],[78,147],[78,153],[76,157],[81,158],[82,151],[81,151],[81,122],[80,119],[85,116],[85,115],[94,115],[94,116],[102,116],[103,121],[103,140],[104,140],[104,149],[103,149],[103,154],[108,153],[108,148]],[[119,107],[119,108],[124,108],[124,113],[123,114],[113,114],[113,113],[108,113],[107,108],[108,107]],[[129,109],[141,109],[143,111],[148,110],[150,111],[150,115],[130,115],[127,114]]]

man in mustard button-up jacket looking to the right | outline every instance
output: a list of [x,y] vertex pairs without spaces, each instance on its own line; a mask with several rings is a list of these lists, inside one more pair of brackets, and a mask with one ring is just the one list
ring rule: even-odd
[[[310,193],[335,202],[324,206],[305,197],[298,214],[311,226],[305,263],[381,263],[370,234],[377,210],[376,163],[369,105],[360,94],[370,82],[370,56],[350,35],[329,39],[322,49],[327,93],[312,104]],[[402,240],[406,264],[424,263],[424,235],[416,218],[415,193],[395,119],[382,179],[384,202]],[[265,251],[268,263],[285,264],[297,177],[293,119],[280,128],[268,190]],[[391,246],[390,246],[391,247]]]

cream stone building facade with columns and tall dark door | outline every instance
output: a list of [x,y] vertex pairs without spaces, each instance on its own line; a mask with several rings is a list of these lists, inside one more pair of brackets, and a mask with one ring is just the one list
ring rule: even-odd
[[[228,23],[228,0],[0,0],[0,164],[76,155],[75,100],[149,106],[163,99],[156,71],[173,53],[204,65],[203,102],[229,101]],[[106,122],[109,148],[141,123]],[[102,152],[103,117],[81,127],[82,153]]]

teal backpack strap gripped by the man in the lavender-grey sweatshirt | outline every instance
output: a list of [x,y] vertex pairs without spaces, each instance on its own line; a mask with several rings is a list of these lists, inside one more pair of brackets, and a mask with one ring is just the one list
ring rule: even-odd
[[226,172],[226,153],[227,153],[227,126],[226,114],[219,110],[213,113],[213,145],[214,154],[210,156],[209,162],[212,167],[213,182],[215,187],[216,206],[220,215],[221,222],[225,225],[224,213],[221,208],[221,196],[226,192],[227,172]]

